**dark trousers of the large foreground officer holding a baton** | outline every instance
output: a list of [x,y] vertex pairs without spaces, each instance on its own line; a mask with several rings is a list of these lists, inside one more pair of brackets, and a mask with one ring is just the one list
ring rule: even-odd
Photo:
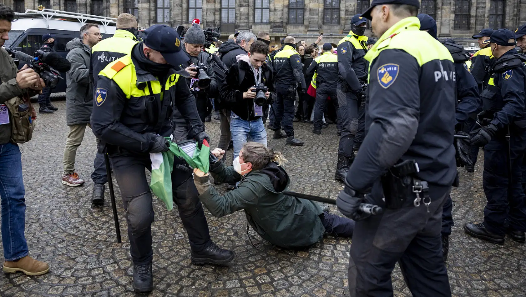
[[356,222],[348,272],[351,297],[392,297],[397,262],[414,297],[451,297],[440,234],[449,190],[430,186],[429,212],[423,203],[415,207],[412,195],[400,209]]

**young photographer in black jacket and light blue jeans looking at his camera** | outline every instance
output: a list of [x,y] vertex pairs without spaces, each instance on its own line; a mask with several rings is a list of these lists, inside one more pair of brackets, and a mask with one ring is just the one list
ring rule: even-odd
[[[237,63],[227,71],[219,98],[231,110],[230,132],[234,144],[234,158],[247,142],[267,146],[267,131],[261,117],[264,105],[276,97],[272,70],[265,64],[268,45],[262,41],[252,43],[248,55],[237,56]],[[258,90],[261,87],[264,90]]]

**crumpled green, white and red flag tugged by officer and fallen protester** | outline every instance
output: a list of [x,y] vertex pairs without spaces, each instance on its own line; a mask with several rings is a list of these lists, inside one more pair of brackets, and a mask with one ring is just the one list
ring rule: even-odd
[[173,191],[171,187],[171,171],[174,169],[174,155],[184,159],[192,168],[203,172],[210,169],[210,145],[205,139],[201,148],[195,141],[177,145],[169,138],[169,151],[150,153],[151,180],[150,189],[166,206],[167,210],[174,208]]

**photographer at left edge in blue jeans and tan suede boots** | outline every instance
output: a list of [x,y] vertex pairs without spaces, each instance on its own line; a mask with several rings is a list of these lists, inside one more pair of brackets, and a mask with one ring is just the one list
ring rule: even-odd
[[[31,68],[24,66],[17,72],[13,58],[2,48],[5,40],[9,39],[8,32],[14,18],[12,9],[0,4],[0,198],[5,259],[3,270],[7,273],[21,271],[27,275],[41,275],[49,271],[49,265],[28,255],[24,235],[26,204],[22,156],[18,145],[12,140],[12,125],[16,125],[18,119],[9,110],[13,107],[15,110],[24,108],[24,102],[18,97],[29,98],[39,93],[45,84]],[[27,105],[31,105],[29,101]],[[27,105],[25,108],[28,108]],[[28,113],[34,112],[31,108],[28,110]],[[24,117],[27,117],[27,114]],[[28,141],[29,137],[23,141],[18,138],[17,140],[22,143]]]

